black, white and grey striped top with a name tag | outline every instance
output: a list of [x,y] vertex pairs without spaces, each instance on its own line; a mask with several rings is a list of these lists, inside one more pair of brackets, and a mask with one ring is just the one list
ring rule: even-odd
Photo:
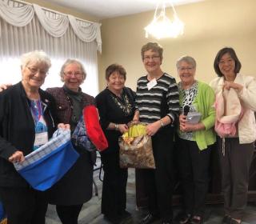
[[[140,122],[152,123],[168,115],[172,121],[178,117],[179,98],[175,78],[164,73],[157,80],[157,85],[148,90],[147,76],[142,76],[137,82],[135,107],[139,111]],[[162,101],[166,101],[166,112],[162,114]]]

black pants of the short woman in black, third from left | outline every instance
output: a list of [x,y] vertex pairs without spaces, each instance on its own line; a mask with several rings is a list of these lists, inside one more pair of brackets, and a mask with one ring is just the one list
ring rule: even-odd
[[103,153],[102,214],[116,218],[126,210],[127,169],[119,166],[119,152]]

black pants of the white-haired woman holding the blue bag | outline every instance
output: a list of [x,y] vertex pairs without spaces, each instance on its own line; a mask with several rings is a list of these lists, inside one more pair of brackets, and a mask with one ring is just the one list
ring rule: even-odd
[[44,224],[47,210],[46,194],[32,188],[0,187],[8,224]]

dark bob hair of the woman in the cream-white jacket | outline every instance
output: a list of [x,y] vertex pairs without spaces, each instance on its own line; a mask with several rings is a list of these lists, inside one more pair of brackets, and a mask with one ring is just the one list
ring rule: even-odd
[[226,53],[230,54],[230,57],[234,60],[234,63],[235,63],[234,74],[238,74],[242,67],[241,62],[238,60],[238,56],[237,56],[237,54],[235,54],[234,49],[231,47],[224,47],[218,51],[218,54],[216,55],[216,57],[214,59],[214,70],[215,70],[216,74],[218,74],[219,77],[222,77],[223,74],[222,74],[221,70],[219,70],[218,63],[220,62],[222,56]]

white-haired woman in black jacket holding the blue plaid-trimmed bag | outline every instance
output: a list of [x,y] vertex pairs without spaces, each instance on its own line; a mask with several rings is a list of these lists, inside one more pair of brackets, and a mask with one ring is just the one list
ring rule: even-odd
[[22,82],[0,94],[0,198],[10,224],[44,224],[46,193],[34,190],[14,169],[14,162],[51,138],[54,98],[40,89],[50,68],[42,51],[23,54]]

